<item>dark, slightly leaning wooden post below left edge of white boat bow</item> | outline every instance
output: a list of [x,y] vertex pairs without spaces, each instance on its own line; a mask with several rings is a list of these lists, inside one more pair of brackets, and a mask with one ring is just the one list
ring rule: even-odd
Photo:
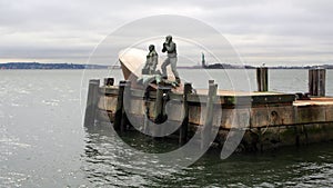
[[115,130],[120,130],[120,126],[121,126],[124,87],[125,87],[125,81],[123,80],[120,81],[118,88],[117,107],[115,107],[114,122],[113,122],[113,127]]

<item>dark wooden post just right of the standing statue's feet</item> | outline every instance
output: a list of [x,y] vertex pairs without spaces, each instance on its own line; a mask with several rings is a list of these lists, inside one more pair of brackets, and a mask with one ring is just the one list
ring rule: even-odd
[[192,91],[192,83],[186,82],[184,85],[184,93],[183,93],[183,121],[179,131],[179,144],[184,145],[188,140],[188,125],[189,125],[189,102],[188,96]]

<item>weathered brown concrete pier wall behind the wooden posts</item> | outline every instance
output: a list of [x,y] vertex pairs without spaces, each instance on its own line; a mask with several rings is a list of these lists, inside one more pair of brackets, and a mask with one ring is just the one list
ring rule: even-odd
[[[118,87],[101,87],[98,102],[99,120],[114,120]],[[221,95],[222,93],[222,95]],[[311,100],[295,100],[293,95],[284,93],[250,93],[250,103],[235,105],[236,100],[244,98],[242,95],[223,95],[218,92],[214,106],[213,125],[220,130],[215,141],[223,146],[232,128],[245,128],[245,135],[240,150],[265,150],[280,146],[306,145],[333,140],[333,99],[313,98]],[[190,95],[189,100],[189,137],[202,127],[206,111],[205,93]],[[155,91],[149,92],[147,101],[142,92],[131,90],[127,111],[135,123],[144,125],[147,106],[149,118],[154,119]],[[164,108],[171,126],[180,126],[183,118],[182,93],[171,93]]]

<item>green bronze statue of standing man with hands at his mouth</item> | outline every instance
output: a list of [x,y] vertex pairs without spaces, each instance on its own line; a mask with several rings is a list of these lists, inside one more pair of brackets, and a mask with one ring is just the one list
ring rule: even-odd
[[164,60],[164,62],[161,66],[162,69],[162,77],[163,79],[168,79],[167,73],[167,66],[171,66],[171,70],[175,77],[175,82],[180,83],[181,80],[179,78],[179,73],[176,71],[176,47],[175,43],[172,41],[172,36],[167,36],[165,42],[163,43],[162,52],[168,52],[168,58]]

